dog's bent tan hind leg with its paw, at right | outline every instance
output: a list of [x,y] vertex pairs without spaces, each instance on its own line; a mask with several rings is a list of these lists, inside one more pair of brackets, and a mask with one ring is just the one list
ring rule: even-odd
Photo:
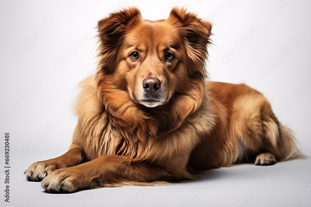
[[279,123],[270,103],[257,91],[235,103],[230,128],[238,139],[237,162],[271,165],[297,150],[291,131]]

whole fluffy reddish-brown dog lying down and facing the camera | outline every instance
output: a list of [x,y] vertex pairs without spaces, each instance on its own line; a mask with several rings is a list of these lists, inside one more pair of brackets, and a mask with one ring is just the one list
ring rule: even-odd
[[208,80],[211,27],[179,7],[166,20],[144,20],[136,7],[100,20],[98,65],[80,83],[72,145],[32,164],[26,178],[48,193],[72,193],[291,158],[296,139],[260,92]]

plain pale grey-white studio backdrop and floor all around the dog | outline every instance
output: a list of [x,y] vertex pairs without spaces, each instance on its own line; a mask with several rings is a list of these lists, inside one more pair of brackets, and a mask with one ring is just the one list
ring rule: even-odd
[[[243,82],[262,92],[307,158],[210,170],[200,181],[168,187],[50,195],[39,183],[26,181],[23,170],[30,164],[70,146],[76,86],[96,67],[94,28],[110,11],[127,5],[137,6],[149,20],[167,18],[173,5],[210,19],[211,80]],[[310,8],[303,0],[0,1],[0,206],[310,206]],[[4,202],[7,132],[10,203]]]

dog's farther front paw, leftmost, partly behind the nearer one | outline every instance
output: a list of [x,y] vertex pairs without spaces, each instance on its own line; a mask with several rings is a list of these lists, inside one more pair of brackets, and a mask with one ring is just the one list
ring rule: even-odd
[[45,160],[35,162],[30,167],[25,170],[25,175],[27,180],[40,182],[48,174],[58,169],[58,164],[53,160]]

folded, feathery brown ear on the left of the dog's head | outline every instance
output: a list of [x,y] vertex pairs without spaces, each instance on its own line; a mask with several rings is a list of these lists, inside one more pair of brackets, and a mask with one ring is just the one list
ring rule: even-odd
[[[134,27],[142,16],[136,7],[129,7],[113,12],[108,17],[98,22],[98,56],[100,57],[101,69],[106,73],[114,71],[114,63],[118,48],[123,42],[125,32]],[[104,64],[105,63],[105,64]]]

